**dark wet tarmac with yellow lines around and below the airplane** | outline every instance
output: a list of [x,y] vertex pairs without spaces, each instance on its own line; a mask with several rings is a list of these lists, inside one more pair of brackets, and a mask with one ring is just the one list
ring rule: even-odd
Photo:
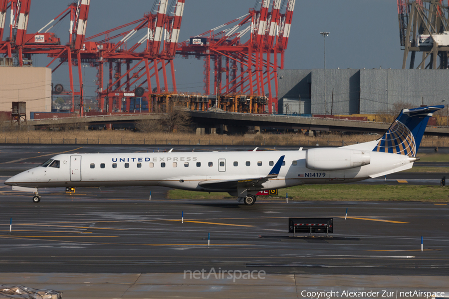
[[[7,171],[73,149],[144,150],[3,146],[0,182]],[[414,173],[404,175],[413,183]],[[0,186],[1,283],[53,288],[65,292],[63,298],[310,298],[302,291],[448,288],[447,204],[259,199],[245,206],[172,200],[166,192],[77,188],[68,195],[48,189],[34,204],[30,194]],[[334,233],[294,238],[288,217],[332,217]],[[267,280],[184,278],[186,272],[212,270],[255,271]]]

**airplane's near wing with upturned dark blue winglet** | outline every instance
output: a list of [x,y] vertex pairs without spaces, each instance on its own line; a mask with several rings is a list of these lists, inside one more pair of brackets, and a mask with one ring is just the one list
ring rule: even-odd
[[230,180],[214,180],[200,182],[199,185],[208,189],[216,190],[232,190],[232,189],[262,189],[263,183],[270,178],[275,178],[279,175],[280,167],[284,161],[285,155],[281,156],[273,166],[267,176],[245,178],[245,179],[230,179]]

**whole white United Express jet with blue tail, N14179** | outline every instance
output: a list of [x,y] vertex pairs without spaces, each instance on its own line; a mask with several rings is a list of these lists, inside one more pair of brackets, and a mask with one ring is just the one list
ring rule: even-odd
[[378,140],[340,148],[284,151],[65,153],[4,183],[13,190],[164,186],[228,192],[253,205],[261,190],[361,181],[410,169],[429,118],[444,106],[404,109]]

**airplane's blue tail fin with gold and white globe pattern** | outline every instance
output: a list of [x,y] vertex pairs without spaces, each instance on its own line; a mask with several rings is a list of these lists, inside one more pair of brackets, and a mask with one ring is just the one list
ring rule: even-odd
[[398,153],[416,156],[427,122],[432,114],[445,106],[430,106],[414,109],[404,109],[379,139],[373,151]]

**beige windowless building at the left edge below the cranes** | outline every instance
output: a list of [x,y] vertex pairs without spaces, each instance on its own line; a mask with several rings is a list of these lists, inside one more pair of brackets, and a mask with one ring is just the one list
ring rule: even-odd
[[26,102],[31,111],[51,112],[51,69],[44,67],[0,67],[0,111],[11,111],[12,102]]

